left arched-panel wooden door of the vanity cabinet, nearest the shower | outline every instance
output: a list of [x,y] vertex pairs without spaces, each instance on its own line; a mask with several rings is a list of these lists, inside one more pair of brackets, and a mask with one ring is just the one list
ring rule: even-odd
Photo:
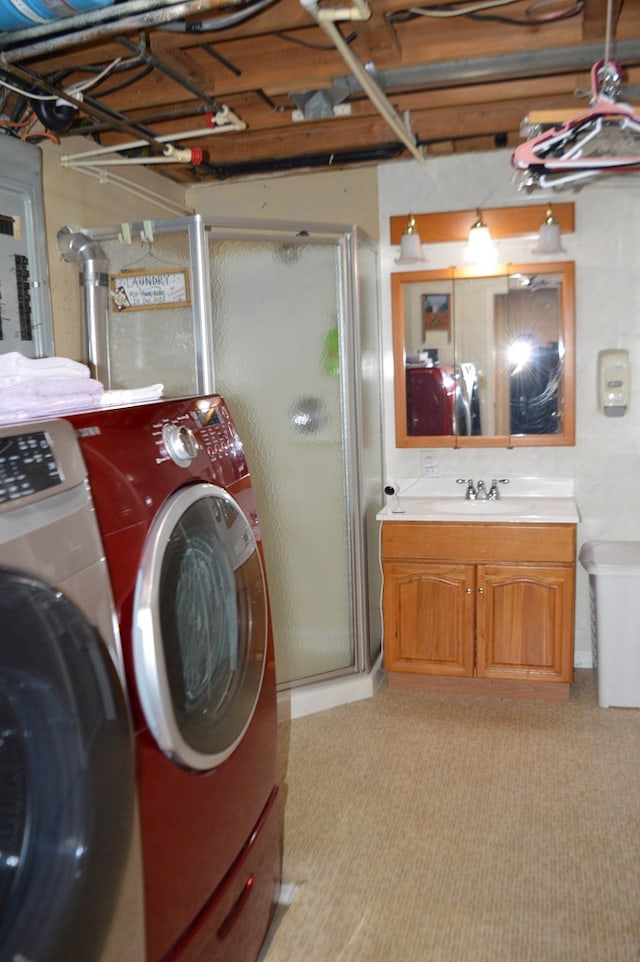
[[474,565],[394,561],[383,571],[385,669],[473,675]]

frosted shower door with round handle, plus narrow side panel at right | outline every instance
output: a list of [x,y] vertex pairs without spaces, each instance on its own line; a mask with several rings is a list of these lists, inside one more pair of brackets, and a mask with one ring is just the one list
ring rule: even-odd
[[380,650],[377,253],[357,231],[208,226],[215,389],[256,491],[278,684]]

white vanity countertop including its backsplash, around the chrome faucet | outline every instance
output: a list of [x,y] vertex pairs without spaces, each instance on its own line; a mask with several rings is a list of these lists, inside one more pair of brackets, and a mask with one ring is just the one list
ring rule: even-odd
[[580,520],[571,479],[510,478],[501,492],[497,501],[468,501],[455,478],[421,478],[399,483],[398,495],[387,497],[376,518],[481,524],[577,524]]

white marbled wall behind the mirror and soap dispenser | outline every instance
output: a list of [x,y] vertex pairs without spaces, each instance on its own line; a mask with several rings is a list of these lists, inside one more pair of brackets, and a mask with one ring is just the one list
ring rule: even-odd
[[[389,245],[388,219],[408,212],[501,207],[515,204],[575,204],[575,233],[563,238],[565,252],[546,258],[532,253],[535,238],[499,242],[501,260],[573,260],[576,264],[576,444],[572,448],[434,449],[440,474],[453,477],[570,477],[581,514],[578,544],[594,539],[640,540],[640,192],[638,181],[619,175],[572,193],[519,193],[509,151],[409,161],[379,168],[382,311],[385,371],[386,467],[389,477],[420,473],[421,452],[395,447],[393,356],[389,274],[397,248]],[[428,238],[422,238],[423,242]],[[461,263],[462,245],[428,245],[425,268]],[[411,268],[404,268],[411,269]],[[596,404],[596,361],[604,348],[626,348],[631,360],[631,405],[623,418],[606,418]],[[591,638],[588,578],[578,569],[576,652],[589,664]],[[640,583],[638,589],[640,590]]]

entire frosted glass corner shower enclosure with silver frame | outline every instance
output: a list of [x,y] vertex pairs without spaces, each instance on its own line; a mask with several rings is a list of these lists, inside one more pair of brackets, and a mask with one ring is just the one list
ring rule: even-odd
[[[110,275],[188,272],[190,303],[106,310],[109,387],[222,394],[265,550],[280,688],[369,671],[381,647],[377,245],[359,228],[189,218],[86,230]],[[129,267],[128,267],[129,265]]]

